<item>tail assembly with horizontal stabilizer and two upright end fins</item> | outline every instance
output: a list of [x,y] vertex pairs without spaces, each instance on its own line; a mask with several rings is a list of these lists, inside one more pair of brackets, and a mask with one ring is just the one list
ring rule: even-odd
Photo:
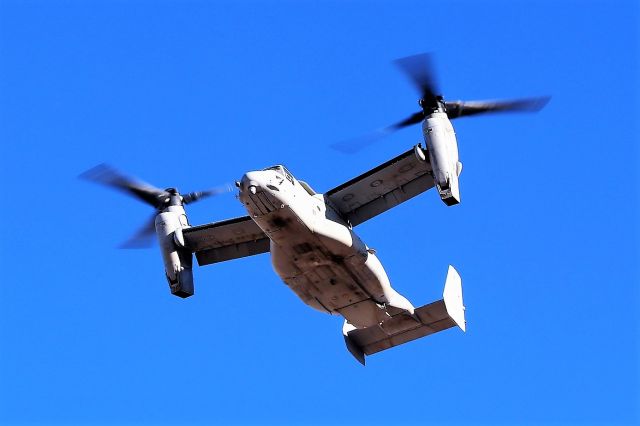
[[345,322],[344,340],[349,352],[364,365],[366,355],[372,355],[456,325],[462,331],[466,331],[464,309],[462,280],[458,271],[453,266],[449,266],[441,300],[416,308],[414,315],[404,311],[367,328],[356,329]]

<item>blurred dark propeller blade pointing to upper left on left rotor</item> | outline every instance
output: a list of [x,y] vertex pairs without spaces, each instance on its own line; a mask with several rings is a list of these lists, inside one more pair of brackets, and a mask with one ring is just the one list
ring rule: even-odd
[[107,164],[100,164],[89,169],[79,177],[129,193],[154,208],[160,200],[169,196],[166,191],[158,189],[139,179],[126,176]]

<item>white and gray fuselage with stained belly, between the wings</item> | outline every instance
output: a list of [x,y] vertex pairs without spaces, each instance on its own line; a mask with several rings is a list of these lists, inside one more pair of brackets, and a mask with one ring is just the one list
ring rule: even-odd
[[400,311],[413,314],[375,252],[322,194],[283,166],[246,173],[240,201],[271,240],[275,272],[306,304],[362,328]]

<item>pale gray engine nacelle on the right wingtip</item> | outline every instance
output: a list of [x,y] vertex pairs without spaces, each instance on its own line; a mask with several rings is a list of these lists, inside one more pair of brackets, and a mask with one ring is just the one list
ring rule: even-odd
[[440,198],[448,206],[458,204],[458,175],[462,163],[458,160],[458,141],[447,114],[434,112],[429,115],[422,125],[422,133]]

